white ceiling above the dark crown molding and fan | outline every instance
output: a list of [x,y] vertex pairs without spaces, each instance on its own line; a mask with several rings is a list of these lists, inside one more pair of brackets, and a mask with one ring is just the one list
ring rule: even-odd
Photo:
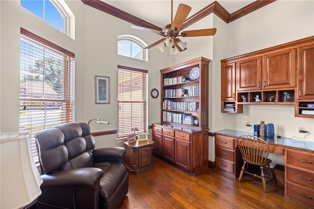
[[[171,0],[102,1],[161,28],[171,23]],[[255,0],[217,0],[229,13],[233,13],[254,1]],[[213,0],[173,0],[173,18],[180,3],[192,7],[191,12],[187,16],[187,18],[189,18],[212,2]]]

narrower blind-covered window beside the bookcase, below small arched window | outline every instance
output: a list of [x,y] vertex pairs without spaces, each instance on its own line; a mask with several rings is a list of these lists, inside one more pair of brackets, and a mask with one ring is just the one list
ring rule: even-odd
[[118,66],[118,137],[148,131],[148,71]]

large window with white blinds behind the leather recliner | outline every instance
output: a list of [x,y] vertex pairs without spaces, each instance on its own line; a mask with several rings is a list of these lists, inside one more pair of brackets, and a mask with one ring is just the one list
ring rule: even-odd
[[21,28],[20,132],[35,133],[74,122],[74,54]]

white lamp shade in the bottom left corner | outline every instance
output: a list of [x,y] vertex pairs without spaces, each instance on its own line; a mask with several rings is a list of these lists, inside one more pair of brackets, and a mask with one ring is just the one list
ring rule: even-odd
[[0,133],[0,162],[0,208],[22,208],[36,200],[43,180],[31,155],[29,134]]

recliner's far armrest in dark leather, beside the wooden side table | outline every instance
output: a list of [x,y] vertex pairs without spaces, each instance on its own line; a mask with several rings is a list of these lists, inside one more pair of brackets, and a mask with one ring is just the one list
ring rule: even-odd
[[94,162],[119,162],[123,163],[126,149],[123,147],[106,147],[93,151]]

